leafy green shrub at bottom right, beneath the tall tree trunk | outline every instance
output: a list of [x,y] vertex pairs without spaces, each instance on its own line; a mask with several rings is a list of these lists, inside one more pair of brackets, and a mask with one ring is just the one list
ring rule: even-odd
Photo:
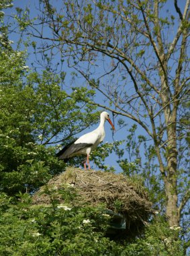
[[126,249],[122,255],[183,256],[184,251],[179,239],[179,230],[180,227],[169,228],[167,222],[156,217],[148,225],[142,238],[136,239],[135,243],[126,244]]

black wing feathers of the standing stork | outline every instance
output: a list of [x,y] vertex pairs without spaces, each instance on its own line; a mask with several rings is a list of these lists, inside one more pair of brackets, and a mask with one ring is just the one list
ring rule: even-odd
[[[75,140],[76,141],[76,140]],[[87,148],[92,146],[92,143],[76,143],[75,141],[69,143],[66,145],[60,152],[56,154],[60,159],[67,159],[70,158],[73,154],[79,152],[80,150],[83,150],[83,148]]]

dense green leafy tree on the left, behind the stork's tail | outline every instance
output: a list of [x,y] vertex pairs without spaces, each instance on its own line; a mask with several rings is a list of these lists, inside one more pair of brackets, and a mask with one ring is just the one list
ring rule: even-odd
[[[1,8],[10,6],[11,1],[5,1]],[[64,162],[55,158],[61,145],[54,142],[67,143],[89,123],[96,123],[99,113],[91,114],[95,107],[81,104],[81,94],[91,98],[93,90],[73,89],[68,94],[61,89],[61,75],[48,68],[37,73],[26,66],[26,50],[19,51],[19,45],[13,50],[8,32],[11,24],[4,24],[3,18],[2,11],[0,191],[34,193],[64,170]]]

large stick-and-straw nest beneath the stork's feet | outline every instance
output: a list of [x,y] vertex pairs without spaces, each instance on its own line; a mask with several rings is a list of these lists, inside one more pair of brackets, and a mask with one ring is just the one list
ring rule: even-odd
[[138,179],[130,179],[123,174],[103,171],[85,171],[79,168],[66,168],[62,174],[51,179],[40,189],[34,197],[34,204],[49,204],[50,195],[43,193],[47,188],[54,191],[59,203],[64,203],[60,189],[75,188],[77,197],[75,203],[99,205],[103,203],[105,209],[119,213],[126,220],[126,233],[136,236],[144,230],[150,214],[152,203],[148,200],[148,193]]

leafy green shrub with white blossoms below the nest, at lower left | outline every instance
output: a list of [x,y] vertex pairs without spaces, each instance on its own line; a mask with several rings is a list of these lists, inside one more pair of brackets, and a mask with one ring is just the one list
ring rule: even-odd
[[105,237],[109,218],[102,207],[31,205],[27,194],[15,205],[5,194],[0,199],[0,255],[120,254],[121,246]]

